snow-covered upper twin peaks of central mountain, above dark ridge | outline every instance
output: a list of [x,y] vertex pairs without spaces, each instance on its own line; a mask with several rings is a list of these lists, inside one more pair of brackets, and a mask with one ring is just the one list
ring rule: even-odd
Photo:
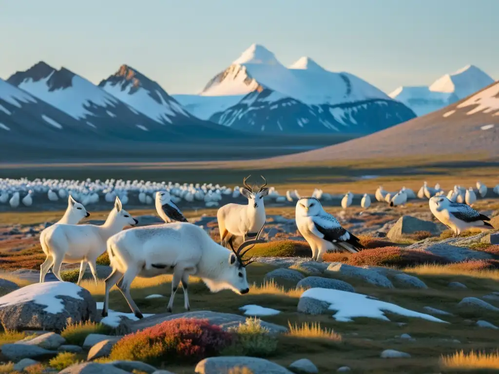
[[264,88],[309,105],[389,99],[362,79],[327,71],[309,57],[301,57],[286,68],[259,44],[252,44],[229,68],[208,82],[201,95],[242,95]]

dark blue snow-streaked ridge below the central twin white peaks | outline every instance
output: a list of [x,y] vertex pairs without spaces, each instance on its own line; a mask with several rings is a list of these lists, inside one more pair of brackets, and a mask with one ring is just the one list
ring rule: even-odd
[[372,133],[414,118],[405,105],[371,99],[337,105],[307,105],[270,89],[249,93],[210,120],[251,133]]

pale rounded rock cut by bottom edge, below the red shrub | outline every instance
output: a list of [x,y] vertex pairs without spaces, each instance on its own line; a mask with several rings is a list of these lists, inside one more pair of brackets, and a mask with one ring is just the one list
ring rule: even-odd
[[236,368],[248,368],[252,374],[293,374],[286,368],[256,357],[210,357],[196,365],[195,373],[230,374]]

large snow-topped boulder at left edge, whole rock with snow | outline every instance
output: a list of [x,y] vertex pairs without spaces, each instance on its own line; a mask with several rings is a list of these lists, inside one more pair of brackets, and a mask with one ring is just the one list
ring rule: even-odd
[[95,300],[69,282],[35,283],[0,298],[0,322],[9,330],[62,331],[67,319],[94,320]]

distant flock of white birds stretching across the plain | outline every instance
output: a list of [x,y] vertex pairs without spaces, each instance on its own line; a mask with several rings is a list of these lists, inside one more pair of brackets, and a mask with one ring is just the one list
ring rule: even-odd
[[[116,197],[119,197],[123,205],[132,203],[133,205],[154,205],[157,191],[168,191],[171,200],[178,204],[197,203],[206,207],[218,207],[220,201],[226,197],[229,200],[243,199],[242,188],[221,186],[219,184],[193,184],[193,183],[174,183],[174,182],[151,182],[151,181],[125,181],[107,179],[105,181],[86,179],[64,180],[64,179],[0,179],[0,205],[9,204],[12,209],[19,206],[36,206],[39,203],[61,202],[65,203],[71,194],[73,198],[85,206],[95,205],[101,202],[114,203]],[[495,194],[499,195],[499,184],[492,188]],[[359,202],[363,208],[371,205],[371,199],[374,197],[377,201],[386,202],[390,206],[404,206],[409,199],[430,199],[433,196],[444,195],[452,202],[467,203],[472,205],[478,197],[485,197],[488,188],[486,185],[477,181],[476,188],[463,188],[459,185],[454,186],[446,193],[439,184],[435,187],[428,186],[424,182],[423,186],[415,193],[412,189],[402,187],[398,191],[386,191],[379,186],[374,196],[371,194],[359,195]],[[363,198],[363,196],[367,198]],[[311,194],[312,197],[320,201],[327,202],[338,199],[343,209],[353,205],[354,194],[348,191],[346,194],[331,194],[322,189],[315,188]],[[277,204],[295,203],[301,198],[296,189],[287,190],[280,194],[274,187],[269,187],[267,199],[273,200]],[[271,201],[272,202],[272,201]]]

